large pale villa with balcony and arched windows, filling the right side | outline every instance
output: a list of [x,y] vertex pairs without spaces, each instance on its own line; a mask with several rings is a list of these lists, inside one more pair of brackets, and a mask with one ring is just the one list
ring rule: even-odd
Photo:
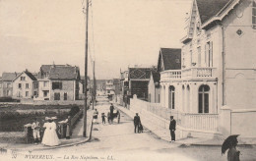
[[256,1],[194,0],[185,29],[181,70],[160,73],[160,105],[181,136],[255,137]]

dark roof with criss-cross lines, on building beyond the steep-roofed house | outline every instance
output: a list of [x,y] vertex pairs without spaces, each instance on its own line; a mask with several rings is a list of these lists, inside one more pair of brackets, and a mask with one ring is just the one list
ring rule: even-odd
[[129,68],[129,79],[149,80],[151,72],[157,71],[156,68]]

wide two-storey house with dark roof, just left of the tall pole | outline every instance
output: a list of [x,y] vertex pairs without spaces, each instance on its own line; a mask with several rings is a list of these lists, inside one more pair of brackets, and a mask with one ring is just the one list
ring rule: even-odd
[[70,65],[42,65],[38,100],[78,100],[80,70]]

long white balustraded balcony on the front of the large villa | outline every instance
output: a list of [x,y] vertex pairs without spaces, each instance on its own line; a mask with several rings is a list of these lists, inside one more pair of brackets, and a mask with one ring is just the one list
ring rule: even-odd
[[216,68],[190,68],[168,70],[160,73],[160,81],[168,80],[213,80],[217,78]]

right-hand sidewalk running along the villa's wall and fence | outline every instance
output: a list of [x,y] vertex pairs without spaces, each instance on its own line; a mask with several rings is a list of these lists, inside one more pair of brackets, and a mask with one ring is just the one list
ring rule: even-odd
[[[131,118],[134,118],[135,112],[124,108],[121,105],[114,104],[120,111],[125,113]],[[148,122],[147,118],[144,115],[140,115],[143,126],[145,126],[148,130],[150,130],[153,134],[156,134],[160,137],[160,139],[170,141],[170,134],[167,129],[160,128],[160,126],[156,124],[152,124],[153,122]],[[178,134],[176,134],[178,135]],[[176,138],[175,143],[180,145],[194,145],[194,146],[222,146],[224,142],[223,137],[215,137],[215,138],[203,138],[203,137],[186,137],[186,138]],[[252,146],[256,145],[256,138],[239,138],[238,137],[238,146]]]

